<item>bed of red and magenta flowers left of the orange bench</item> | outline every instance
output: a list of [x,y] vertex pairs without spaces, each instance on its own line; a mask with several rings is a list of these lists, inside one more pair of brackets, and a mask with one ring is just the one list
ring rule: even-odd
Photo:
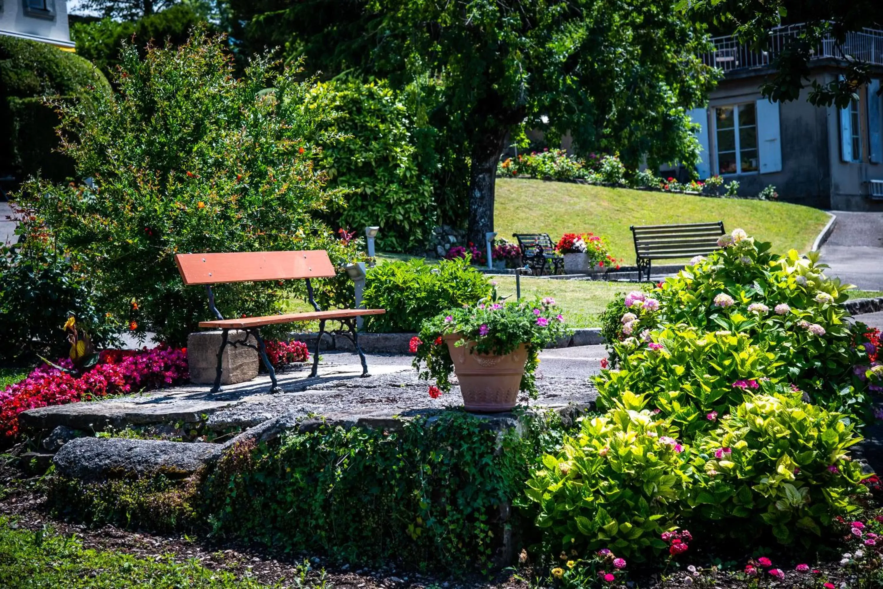
[[[70,359],[58,360],[58,365],[73,368]],[[43,364],[0,392],[0,441],[9,442],[19,434],[19,413],[28,409],[169,387],[188,377],[186,348],[164,345],[143,351],[102,351],[98,364],[79,375]]]

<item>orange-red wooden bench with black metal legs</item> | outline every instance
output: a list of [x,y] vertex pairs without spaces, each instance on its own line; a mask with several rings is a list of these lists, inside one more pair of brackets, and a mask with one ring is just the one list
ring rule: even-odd
[[[200,321],[200,328],[222,329],[221,347],[218,350],[218,365],[215,375],[215,386],[212,392],[221,389],[221,363],[223,351],[227,345],[245,345],[256,349],[260,353],[270,381],[273,382],[270,392],[278,392],[279,386],[275,378],[275,370],[267,358],[267,347],[260,337],[260,328],[265,325],[276,323],[294,323],[298,321],[319,320],[319,338],[316,340],[316,349],[313,352],[313,371],[310,376],[317,374],[319,369],[319,345],[322,335],[325,333],[326,321],[341,321],[348,330],[343,328],[336,331],[348,337],[358,352],[358,358],[362,361],[362,376],[368,375],[368,365],[365,354],[358,345],[358,333],[356,332],[355,318],[360,315],[377,315],[386,313],[384,309],[335,309],[322,311],[313,298],[312,278],[332,278],[336,276],[334,266],[328,259],[328,253],[324,250],[302,252],[246,252],[246,253],[178,253],[175,256],[177,269],[181,273],[186,286],[204,284],[208,293],[208,308],[215,315],[213,321]],[[245,283],[261,282],[267,280],[297,280],[306,279],[306,294],[315,311],[308,313],[284,313],[267,315],[264,317],[242,317],[239,319],[224,319],[215,306],[215,293],[212,292],[212,284],[222,283]],[[245,337],[238,342],[230,342],[228,334],[230,329],[245,331]],[[248,344],[249,336],[254,336],[257,346]]]

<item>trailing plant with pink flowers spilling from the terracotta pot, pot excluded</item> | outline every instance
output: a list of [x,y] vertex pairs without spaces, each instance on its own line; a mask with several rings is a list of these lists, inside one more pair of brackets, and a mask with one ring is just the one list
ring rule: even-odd
[[424,321],[419,337],[411,341],[411,350],[417,354],[413,364],[420,378],[432,378],[438,389],[447,392],[454,364],[443,337],[458,336],[457,347],[468,346],[473,354],[502,356],[525,344],[527,363],[521,390],[535,396],[533,373],[540,364],[540,350],[563,333],[564,317],[553,298],[537,298],[532,304],[483,298],[478,305],[453,308]]

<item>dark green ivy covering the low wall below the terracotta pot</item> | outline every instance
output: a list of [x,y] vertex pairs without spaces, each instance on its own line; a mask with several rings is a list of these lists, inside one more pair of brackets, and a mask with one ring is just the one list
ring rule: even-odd
[[503,525],[517,524],[508,505],[529,457],[560,441],[558,427],[537,417],[519,436],[443,412],[401,429],[321,426],[234,450],[208,481],[215,532],[350,562],[487,570]]

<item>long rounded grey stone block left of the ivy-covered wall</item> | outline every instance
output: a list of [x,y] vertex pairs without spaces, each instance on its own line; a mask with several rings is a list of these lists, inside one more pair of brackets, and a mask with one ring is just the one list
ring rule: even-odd
[[106,480],[128,473],[162,473],[183,479],[219,457],[221,449],[205,442],[77,438],[64,444],[52,461],[57,472],[79,480]]

